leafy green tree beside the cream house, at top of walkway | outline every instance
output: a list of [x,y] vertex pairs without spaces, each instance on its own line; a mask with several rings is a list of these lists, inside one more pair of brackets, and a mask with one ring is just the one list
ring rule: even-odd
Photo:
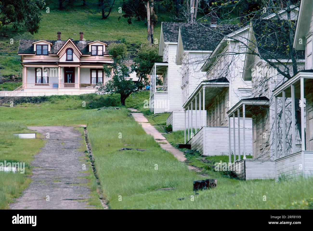
[[[154,62],[160,62],[162,57],[158,55],[156,46],[143,45],[130,64],[130,54],[125,44],[111,44],[109,55],[113,64],[104,64],[103,70],[107,76],[112,78],[100,86],[98,93],[118,93],[121,95],[121,104],[125,105],[126,98],[133,92],[140,91],[148,84],[147,74],[150,73]],[[130,79],[130,73],[136,71],[138,80],[134,83]]]

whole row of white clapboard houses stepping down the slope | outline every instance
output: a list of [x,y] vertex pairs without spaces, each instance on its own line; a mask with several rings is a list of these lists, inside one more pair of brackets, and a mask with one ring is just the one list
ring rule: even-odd
[[[262,47],[254,47],[260,56],[242,52],[250,41],[262,44],[257,32],[272,17],[240,29],[162,23],[163,62],[151,70],[150,110],[170,112],[167,125],[184,130],[185,143],[203,156],[229,155],[231,170],[245,180],[313,175],[313,2],[302,0],[291,14],[301,71],[290,79],[260,58],[266,57]],[[267,59],[292,70],[284,52]]]

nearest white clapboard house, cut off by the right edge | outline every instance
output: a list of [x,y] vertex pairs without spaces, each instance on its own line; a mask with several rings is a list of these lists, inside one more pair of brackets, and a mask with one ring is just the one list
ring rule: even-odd
[[[290,143],[287,142],[286,131],[283,130],[283,136],[279,136],[279,111],[275,110],[274,113],[276,180],[313,175],[313,1],[311,0],[301,0],[293,46],[297,51],[305,51],[305,70],[295,73],[273,91],[275,106],[279,100],[284,99],[290,99],[292,103]],[[300,132],[296,126],[295,103],[299,103],[300,107]],[[286,109],[283,110],[284,128],[288,127],[285,114]],[[297,143],[299,133],[300,148]],[[282,143],[281,148],[279,143]],[[291,144],[291,148],[288,143]]]

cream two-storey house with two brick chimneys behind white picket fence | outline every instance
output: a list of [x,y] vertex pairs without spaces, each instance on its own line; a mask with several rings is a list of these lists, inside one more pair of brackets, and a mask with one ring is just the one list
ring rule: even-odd
[[1,96],[37,96],[93,93],[105,84],[103,64],[112,63],[107,47],[120,41],[20,40],[18,55],[23,67],[23,84]]

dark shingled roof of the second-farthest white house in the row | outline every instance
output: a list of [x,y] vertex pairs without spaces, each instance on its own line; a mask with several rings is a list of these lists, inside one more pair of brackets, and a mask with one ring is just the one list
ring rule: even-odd
[[237,29],[237,26],[228,24],[180,26],[183,49],[185,51],[213,51],[224,35]]

